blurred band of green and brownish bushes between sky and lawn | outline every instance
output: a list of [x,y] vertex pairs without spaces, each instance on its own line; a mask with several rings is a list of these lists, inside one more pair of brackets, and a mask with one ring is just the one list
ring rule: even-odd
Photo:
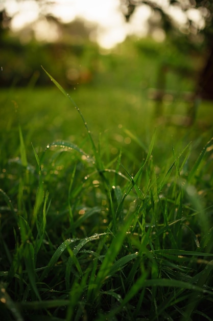
[[[132,63],[133,59],[138,65]],[[42,43],[32,39],[23,45],[19,38],[7,35],[0,51],[0,61],[3,66],[0,74],[2,87],[50,85],[41,65],[68,88],[99,82],[124,85],[127,79],[128,86],[131,79],[136,79],[133,86],[143,82],[142,87],[153,87],[156,85],[156,72],[162,65],[191,77],[194,71],[197,75],[203,65],[201,51],[187,50],[184,43],[178,49],[169,40],[157,43],[152,38],[134,37],[106,52],[89,40]],[[185,90],[188,90],[187,86]]]

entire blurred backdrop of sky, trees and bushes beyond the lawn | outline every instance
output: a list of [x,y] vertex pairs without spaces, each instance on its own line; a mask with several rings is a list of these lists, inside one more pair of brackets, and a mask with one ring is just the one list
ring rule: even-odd
[[142,87],[162,89],[167,73],[182,73],[188,76],[186,91],[213,96],[209,1],[1,0],[0,10],[1,87],[50,84],[40,65],[64,86],[99,82],[103,69],[121,65],[134,78],[122,59],[133,64],[135,51]]

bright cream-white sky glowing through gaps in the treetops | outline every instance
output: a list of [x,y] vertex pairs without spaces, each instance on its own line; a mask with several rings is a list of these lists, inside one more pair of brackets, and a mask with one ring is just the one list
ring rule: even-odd
[[[180,10],[169,8],[168,0],[155,0],[155,2],[163,4],[164,8],[179,24],[185,23],[186,17]],[[46,37],[53,41],[57,37],[57,30],[54,28],[48,29],[48,24],[45,21],[36,22],[39,7],[34,0],[19,2],[7,0],[6,9],[9,15],[14,16],[12,20],[13,30],[19,30],[24,25],[33,23],[38,38],[45,39]],[[125,23],[124,15],[121,12],[120,0],[55,0],[55,4],[49,7],[49,13],[65,23],[71,22],[77,17],[97,23],[96,41],[102,48],[110,49],[123,42],[127,35],[146,36],[151,9],[147,5],[138,6],[128,24]],[[191,18],[197,19],[197,22],[202,24],[197,12],[191,11],[188,14],[191,14]],[[164,39],[162,30],[158,30],[153,36],[158,41]]]

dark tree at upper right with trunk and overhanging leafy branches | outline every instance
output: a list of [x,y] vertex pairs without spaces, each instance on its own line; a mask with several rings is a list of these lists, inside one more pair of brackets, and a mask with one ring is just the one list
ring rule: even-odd
[[[160,12],[162,17],[162,27],[165,32],[169,33],[171,30],[176,28],[176,24],[171,18],[170,8],[175,7],[179,8],[186,16],[186,23],[183,26],[185,27],[185,37],[187,41],[192,44],[192,39],[196,41],[195,35],[203,36],[204,44],[204,55],[206,56],[206,61],[204,68],[200,73],[196,96],[199,96],[204,99],[213,100],[213,2],[208,0],[168,0],[168,5],[158,4],[155,0],[120,0],[121,8],[128,22],[131,15],[133,14],[136,6],[145,4],[150,6],[153,10]],[[192,13],[193,10],[198,10],[201,19],[204,21],[203,28],[199,29],[199,26],[196,26],[195,22],[192,20],[188,13]],[[177,29],[177,28],[176,28]],[[197,29],[197,30],[196,30]]]

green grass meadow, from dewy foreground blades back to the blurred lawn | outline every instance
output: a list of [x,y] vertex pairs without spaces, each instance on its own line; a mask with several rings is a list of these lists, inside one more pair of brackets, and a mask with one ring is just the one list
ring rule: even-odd
[[212,104],[156,115],[165,51],[129,49],[89,84],[0,91],[3,321],[212,320]]

